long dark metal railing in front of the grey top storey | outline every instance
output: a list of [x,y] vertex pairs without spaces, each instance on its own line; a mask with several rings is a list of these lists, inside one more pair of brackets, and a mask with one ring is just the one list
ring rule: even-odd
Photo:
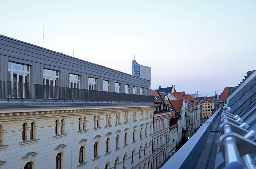
[[0,98],[114,102],[154,102],[153,96],[0,81]]

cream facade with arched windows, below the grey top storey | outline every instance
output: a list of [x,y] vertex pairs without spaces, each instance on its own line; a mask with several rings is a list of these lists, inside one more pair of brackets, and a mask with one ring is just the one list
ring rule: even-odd
[[[0,168],[23,169],[28,162],[33,169],[55,168],[58,153],[61,154],[61,169],[151,168],[154,107],[0,109]],[[79,156],[81,147],[82,158]]]

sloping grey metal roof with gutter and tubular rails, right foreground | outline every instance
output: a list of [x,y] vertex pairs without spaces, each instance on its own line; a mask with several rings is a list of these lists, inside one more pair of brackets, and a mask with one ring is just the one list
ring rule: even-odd
[[256,71],[227,98],[162,169],[256,167]]

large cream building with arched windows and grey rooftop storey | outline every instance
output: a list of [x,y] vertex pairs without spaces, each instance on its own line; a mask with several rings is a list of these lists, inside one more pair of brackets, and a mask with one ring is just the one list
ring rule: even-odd
[[0,169],[151,168],[149,85],[0,35]]

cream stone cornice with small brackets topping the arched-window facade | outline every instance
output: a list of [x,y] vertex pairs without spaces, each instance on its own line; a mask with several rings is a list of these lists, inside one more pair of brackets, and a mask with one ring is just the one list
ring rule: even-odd
[[[154,106],[123,106],[123,107],[111,107],[111,108],[99,108],[98,106],[91,107],[92,109],[86,109],[86,107],[79,107],[74,109],[74,107],[66,107],[66,108],[44,108],[41,107],[27,109],[0,109],[0,120],[22,120],[23,118],[46,118],[46,117],[56,117],[56,116],[75,116],[75,115],[88,115],[88,114],[101,114],[101,113],[116,113],[116,112],[124,112],[124,111],[134,111],[136,110],[144,110],[144,109],[152,109]],[[108,106],[105,106],[108,107]],[[29,110],[29,111],[28,111]]]

